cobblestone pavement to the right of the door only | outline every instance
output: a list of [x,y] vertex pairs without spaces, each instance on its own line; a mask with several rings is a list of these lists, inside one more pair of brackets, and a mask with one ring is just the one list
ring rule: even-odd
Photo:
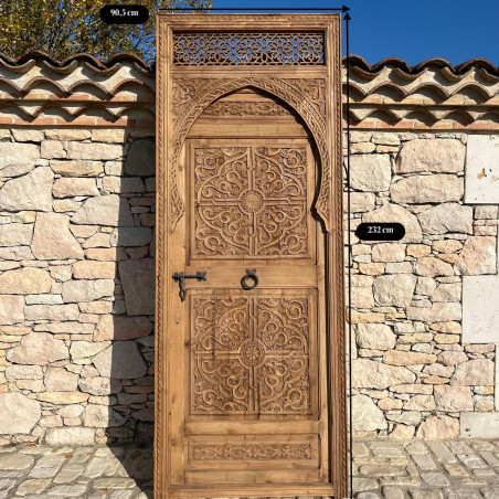
[[355,440],[357,499],[499,499],[499,440]]

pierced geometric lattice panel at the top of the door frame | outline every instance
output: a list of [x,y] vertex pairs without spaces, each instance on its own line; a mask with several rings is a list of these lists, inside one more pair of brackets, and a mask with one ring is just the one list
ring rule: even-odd
[[325,64],[322,33],[176,33],[177,66],[317,66]]

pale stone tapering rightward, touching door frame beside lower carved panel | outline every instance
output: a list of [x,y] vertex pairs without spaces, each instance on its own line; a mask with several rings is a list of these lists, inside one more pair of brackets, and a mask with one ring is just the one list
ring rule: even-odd
[[384,390],[402,383],[414,383],[416,375],[404,367],[386,365],[369,359],[352,361],[352,386]]

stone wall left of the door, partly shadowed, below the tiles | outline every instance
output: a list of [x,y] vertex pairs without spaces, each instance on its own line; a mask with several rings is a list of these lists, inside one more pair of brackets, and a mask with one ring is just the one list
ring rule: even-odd
[[152,135],[0,130],[0,444],[151,442]]

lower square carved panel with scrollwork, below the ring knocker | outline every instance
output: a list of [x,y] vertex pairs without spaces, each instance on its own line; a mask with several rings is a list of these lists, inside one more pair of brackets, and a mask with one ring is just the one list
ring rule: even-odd
[[311,291],[193,297],[191,413],[312,412]]

